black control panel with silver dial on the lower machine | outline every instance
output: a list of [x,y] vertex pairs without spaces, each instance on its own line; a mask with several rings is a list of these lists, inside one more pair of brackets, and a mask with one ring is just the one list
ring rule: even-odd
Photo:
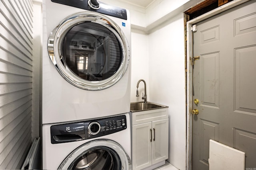
[[66,143],[101,137],[127,128],[126,116],[114,116],[50,127],[51,143]]

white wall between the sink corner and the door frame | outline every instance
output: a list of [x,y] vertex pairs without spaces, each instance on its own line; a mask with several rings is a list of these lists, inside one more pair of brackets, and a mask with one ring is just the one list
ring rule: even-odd
[[[169,159],[186,169],[186,94],[183,14],[149,35],[150,101],[169,106]],[[134,57],[134,56],[132,56]]]

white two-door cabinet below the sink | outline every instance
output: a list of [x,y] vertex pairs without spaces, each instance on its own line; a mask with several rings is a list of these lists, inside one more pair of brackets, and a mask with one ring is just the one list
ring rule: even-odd
[[[168,159],[168,108],[132,113],[132,169],[140,170]],[[138,123],[140,122],[140,123]]]

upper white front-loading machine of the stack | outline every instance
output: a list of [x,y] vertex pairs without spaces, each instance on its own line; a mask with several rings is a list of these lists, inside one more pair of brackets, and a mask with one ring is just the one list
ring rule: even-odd
[[130,15],[97,0],[43,0],[42,123],[130,111]]

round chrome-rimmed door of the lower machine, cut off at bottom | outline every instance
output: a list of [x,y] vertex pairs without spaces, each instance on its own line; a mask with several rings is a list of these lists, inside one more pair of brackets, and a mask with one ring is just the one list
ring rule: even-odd
[[110,140],[96,140],[70,153],[58,169],[129,170],[131,164],[130,158],[118,143]]

